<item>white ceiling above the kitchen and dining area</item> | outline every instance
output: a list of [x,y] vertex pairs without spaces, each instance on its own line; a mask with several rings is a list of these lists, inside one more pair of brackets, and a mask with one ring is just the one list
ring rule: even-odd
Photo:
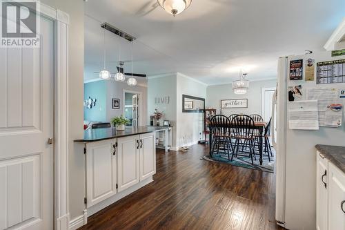
[[[137,37],[134,72],[180,72],[206,84],[225,84],[244,68],[248,79],[276,77],[277,58],[322,46],[345,17],[344,0],[194,0],[172,17],[156,0],[88,0],[85,19],[85,79],[102,68],[108,22]],[[107,64],[115,71],[119,41],[130,60],[130,43],[110,32]],[[126,50],[126,51],[125,51]],[[130,63],[125,65],[130,72]],[[143,80],[143,79],[141,79]]]

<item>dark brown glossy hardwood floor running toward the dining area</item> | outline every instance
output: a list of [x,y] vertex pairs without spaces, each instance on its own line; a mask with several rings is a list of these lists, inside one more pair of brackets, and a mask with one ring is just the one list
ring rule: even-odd
[[154,182],[88,218],[80,229],[283,229],[275,224],[273,173],[157,149]]

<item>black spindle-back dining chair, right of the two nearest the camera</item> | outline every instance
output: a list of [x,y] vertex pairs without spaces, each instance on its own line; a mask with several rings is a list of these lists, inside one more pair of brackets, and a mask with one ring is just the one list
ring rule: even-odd
[[[255,157],[255,135],[254,135],[254,120],[248,115],[237,115],[231,121],[233,125],[233,132],[235,134],[235,146],[233,147],[234,153],[231,156],[231,161],[234,155],[237,157],[239,151],[239,145],[242,145],[242,151],[244,145],[249,148],[249,157],[254,165],[253,156]],[[243,140],[243,142],[242,142]]]

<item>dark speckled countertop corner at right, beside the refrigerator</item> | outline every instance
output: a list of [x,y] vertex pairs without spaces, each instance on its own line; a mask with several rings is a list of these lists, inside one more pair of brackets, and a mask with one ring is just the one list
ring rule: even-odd
[[315,148],[345,173],[345,147],[317,144]]

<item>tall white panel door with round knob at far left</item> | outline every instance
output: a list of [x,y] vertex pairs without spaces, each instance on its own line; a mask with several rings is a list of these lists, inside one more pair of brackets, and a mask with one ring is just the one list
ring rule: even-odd
[[53,228],[54,23],[40,48],[0,48],[0,229]]

